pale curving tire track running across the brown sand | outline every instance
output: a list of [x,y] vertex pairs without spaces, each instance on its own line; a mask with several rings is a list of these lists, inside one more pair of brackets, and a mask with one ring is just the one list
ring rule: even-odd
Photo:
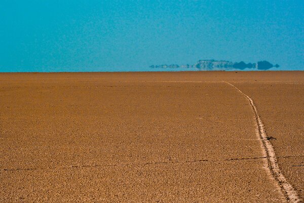
[[254,112],[255,121],[257,124],[257,128],[258,128],[258,135],[259,135],[260,141],[262,142],[263,149],[267,155],[268,168],[269,168],[272,176],[274,177],[274,179],[280,186],[282,192],[284,193],[287,202],[302,202],[301,199],[298,197],[295,189],[291,186],[290,183],[288,183],[288,181],[286,180],[286,178],[284,177],[284,175],[282,174],[282,172],[278,166],[278,161],[277,161],[277,157],[275,154],[275,150],[274,150],[272,144],[270,143],[270,141],[267,139],[267,134],[264,129],[264,125],[258,115],[257,108],[256,108],[252,98],[247,96],[245,93],[243,93],[240,89],[238,89],[233,84],[231,84],[229,82],[225,82],[225,81],[223,81],[223,82],[234,87],[236,90],[238,90],[242,95],[244,95],[249,100],[252,110]]

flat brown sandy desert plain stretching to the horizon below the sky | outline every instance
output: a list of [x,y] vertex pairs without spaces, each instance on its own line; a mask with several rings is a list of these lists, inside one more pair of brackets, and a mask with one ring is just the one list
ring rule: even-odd
[[302,199],[304,72],[0,74],[0,202]]

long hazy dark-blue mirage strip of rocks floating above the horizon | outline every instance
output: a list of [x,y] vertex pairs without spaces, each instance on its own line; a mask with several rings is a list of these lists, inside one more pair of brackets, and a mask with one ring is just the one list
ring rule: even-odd
[[231,62],[227,60],[214,60],[214,59],[204,59],[199,60],[194,65],[177,65],[177,64],[163,64],[163,65],[150,65],[151,69],[189,69],[189,68],[195,68],[198,70],[204,70],[204,71],[212,71],[212,70],[244,70],[244,69],[255,69],[255,70],[268,70],[272,67],[279,67],[278,64],[273,65],[268,61],[258,61],[257,63],[245,63],[244,61],[241,62]]

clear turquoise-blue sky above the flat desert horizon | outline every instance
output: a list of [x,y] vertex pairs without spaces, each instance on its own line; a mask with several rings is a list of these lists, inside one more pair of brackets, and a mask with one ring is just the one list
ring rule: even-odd
[[0,72],[151,71],[199,59],[304,70],[304,1],[0,1]]

